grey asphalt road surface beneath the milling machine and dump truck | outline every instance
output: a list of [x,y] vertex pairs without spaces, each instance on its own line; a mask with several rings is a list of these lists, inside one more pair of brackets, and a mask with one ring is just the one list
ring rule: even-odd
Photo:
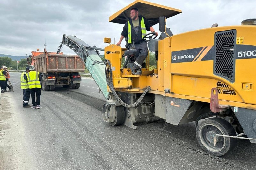
[[[102,94],[91,79],[79,89],[42,91],[41,109],[22,108],[20,73],[15,92],[1,95],[0,169],[255,169],[256,145],[238,140],[223,157],[205,153],[194,123],[164,121],[110,126]],[[30,102],[31,104],[31,102]]]

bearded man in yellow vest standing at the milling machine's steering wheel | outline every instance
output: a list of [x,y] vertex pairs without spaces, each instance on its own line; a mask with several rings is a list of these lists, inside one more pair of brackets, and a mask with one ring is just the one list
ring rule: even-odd
[[119,42],[116,45],[120,45],[124,37],[128,37],[128,43],[133,44],[135,49],[137,49],[137,54],[134,56],[134,64],[131,65],[131,71],[135,75],[140,75],[141,65],[148,55],[147,42],[143,40],[147,31],[151,31],[158,36],[150,22],[143,16],[139,16],[139,10],[137,8],[132,8],[130,11],[130,17],[125,23],[123,31]]

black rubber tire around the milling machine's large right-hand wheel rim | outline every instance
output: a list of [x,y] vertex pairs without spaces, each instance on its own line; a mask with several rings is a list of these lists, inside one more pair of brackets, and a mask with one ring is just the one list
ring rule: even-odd
[[[232,149],[234,149],[234,147],[236,146],[237,140],[234,138],[229,138],[229,137],[223,137],[223,139],[226,140],[225,145],[223,145],[222,150],[217,151],[217,152],[213,152],[208,149],[210,147],[207,148],[205,145],[203,145],[203,143],[202,143],[203,140],[201,139],[199,133],[200,133],[200,129],[203,128],[203,126],[206,126],[206,124],[212,124],[212,126],[218,127],[223,132],[222,133],[223,135],[236,136],[236,131],[234,130],[233,126],[224,119],[209,118],[209,119],[205,119],[205,120],[201,121],[196,128],[196,138],[197,138],[199,145],[205,152],[210,153],[211,155],[214,155],[214,156],[223,156],[224,154],[226,154],[226,153],[230,152]],[[205,136],[203,136],[203,137],[205,137]],[[204,139],[207,141],[206,138],[204,138]],[[208,144],[211,145],[212,147],[214,147],[214,145],[210,144],[210,142],[208,142]]]

